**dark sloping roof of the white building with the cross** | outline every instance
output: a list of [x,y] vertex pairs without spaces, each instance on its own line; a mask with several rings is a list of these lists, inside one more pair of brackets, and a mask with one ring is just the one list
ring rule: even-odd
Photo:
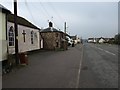
[[[9,22],[14,22],[14,14],[9,14],[8,15],[8,21]],[[29,22],[28,20],[26,20],[25,18],[20,17],[20,16],[17,16],[17,23],[19,25],[23,25],[23,26],[27,26],[27,27],[31,27],[31,28],[40,30],[40,28],[38,28],[37,26],[33,25],[31,22]]]

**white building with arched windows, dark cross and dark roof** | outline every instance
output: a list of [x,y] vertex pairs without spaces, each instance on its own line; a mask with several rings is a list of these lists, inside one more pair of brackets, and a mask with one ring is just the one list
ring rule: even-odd
[[[19,52],[38,50],[43,48],[40,29],[28,20],[18,16],[18,49]],[[15,53],[14,15],[8,15],[7,22],[8,53]]]

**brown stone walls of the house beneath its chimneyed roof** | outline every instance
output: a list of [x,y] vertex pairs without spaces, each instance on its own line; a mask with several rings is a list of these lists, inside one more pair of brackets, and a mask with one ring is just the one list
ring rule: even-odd
[[44,49],[47,50],[55,50],[63,47],[62,37],[64,38],[64,34],[61,32],[42,32],[41,33]]

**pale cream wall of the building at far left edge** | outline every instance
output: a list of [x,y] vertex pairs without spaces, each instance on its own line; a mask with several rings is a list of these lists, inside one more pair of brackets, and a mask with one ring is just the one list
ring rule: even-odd
[[0,61],[7,59],[6,14],[0,12]]

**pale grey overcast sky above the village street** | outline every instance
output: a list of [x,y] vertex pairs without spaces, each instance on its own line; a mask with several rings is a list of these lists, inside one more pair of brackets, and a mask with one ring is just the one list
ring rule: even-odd
[[[0,4],[13,12],[12,1],[0,1]],[[113,0],[114,2],[112,0],[106,2],[105,0],[104,2],[100,0],[97,0],[98,2],[93,0],[91,2],[87,0],[84,2],[28,1],[18,2],[18,15],[40,28],[48,27],[48,20],[51,20],[54,27],[62,31],[64,31],[64,22],[67,22],[67,32],[82,38],[114,37],[118,33],[117,0]]]

